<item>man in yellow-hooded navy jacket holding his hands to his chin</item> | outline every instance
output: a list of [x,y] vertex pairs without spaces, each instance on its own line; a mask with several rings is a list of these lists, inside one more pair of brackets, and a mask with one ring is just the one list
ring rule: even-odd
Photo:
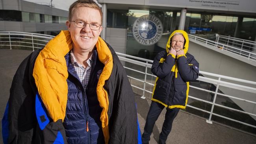
[[164,107],[167,111],[159,144],[165,144],[178,111],[186,108],[189,81],[197,79],[199,73],[198,62],[193,55],[187,53],[188,44],[187,33],[176,30],[169,37],[166,50],[154,58],[151,72],[157,78],[142,135],[143,144],[148,144],[154,124]]

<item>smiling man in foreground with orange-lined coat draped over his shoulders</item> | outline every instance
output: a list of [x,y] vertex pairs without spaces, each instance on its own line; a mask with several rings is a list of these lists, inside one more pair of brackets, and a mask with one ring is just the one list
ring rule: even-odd
[[114,50],[99,37],[100,7],[78,0],[66,24],[68,31],[20,64],[3,118],[4,143],[136,144],[134,94]]

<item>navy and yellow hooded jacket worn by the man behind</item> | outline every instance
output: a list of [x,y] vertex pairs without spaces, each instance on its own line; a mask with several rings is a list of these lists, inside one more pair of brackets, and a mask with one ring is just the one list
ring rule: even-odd
[[[168,54],[171,47],[171,38],[174,33],[182,33],[184,36],[184,55]],[[170,35],[166,50],[158,53],[154,58],[151,71],[157,76],[152,101],[161,103],[165,107],[186,108],[189,81],[198,78],[199,64],[193,55],[187,53],[189,47],[188,35],[183,30],[175,30]]]

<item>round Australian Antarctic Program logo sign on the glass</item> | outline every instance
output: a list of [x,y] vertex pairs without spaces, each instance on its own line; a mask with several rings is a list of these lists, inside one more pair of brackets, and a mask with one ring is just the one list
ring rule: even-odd
[[143,15],[135,20],[132,33],[135,40],[140,44],[152,45],[160,40],[163,25],[159,18],[152,15]]

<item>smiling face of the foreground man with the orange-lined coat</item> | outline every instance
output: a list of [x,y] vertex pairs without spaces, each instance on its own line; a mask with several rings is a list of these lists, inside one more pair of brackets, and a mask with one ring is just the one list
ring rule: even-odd
[[[101,24],[101,15],[97,9],[78,7],[74,9],[71,20]],[[70,21],[67,21],[66,24],[71,35],[73,48],[83,52],[90,52],[98,41],[102,26],[100,26],[100,30],[91,30],[89,24],[86,24],[84,28],[78,28],[74,25],[74,22]]]

